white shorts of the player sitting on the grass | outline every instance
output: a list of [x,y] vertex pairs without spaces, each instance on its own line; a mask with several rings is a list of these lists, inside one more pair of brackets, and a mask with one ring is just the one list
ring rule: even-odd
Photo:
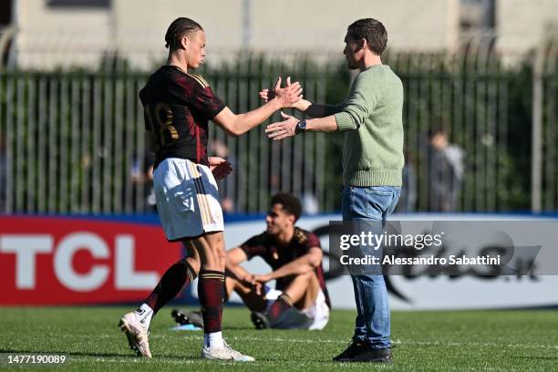
[[[268,300],[275,300],[281,294],[283,294],[283,292],[273,289],[265,294],[265,298]],[[269,301],[267,308],[269,309],[269,306],[272,304],[273,301]],[[320,292],[315,298],[314,305],[303,310],[291,306],[279,316],[277,323],[275,323],[273,327],[281,329],[308,329],[313,331],[324,329],[328,321],[329,307],[325,303],[325,294],[320,289]]]

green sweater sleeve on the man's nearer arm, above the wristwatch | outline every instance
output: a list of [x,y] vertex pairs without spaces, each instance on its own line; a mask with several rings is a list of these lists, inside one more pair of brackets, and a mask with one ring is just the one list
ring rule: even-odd
[[337,129],[358,129],[376,108],[377,95],[369,79],[356,77],[346,100],[345,108],[335,114]]

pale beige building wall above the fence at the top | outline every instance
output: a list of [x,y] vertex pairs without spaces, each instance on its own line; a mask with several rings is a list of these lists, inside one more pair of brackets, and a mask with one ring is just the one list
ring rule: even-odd
[[[501,52],[523,54],[535,47],[558,20],[557,3],[497,1]],[[16,15],[18,62],[26,67],[95,66],[105,51],[117,49],[136,65],[150,67],[166,56],[165,31],[181,15],[205,28],[209,60],[242,47],[341,56],[346,26],[366,16],[385,24],[392,50],[452,51],[460,42],[460,0],[112,0],[110,7],[87,9],[17,0]]]

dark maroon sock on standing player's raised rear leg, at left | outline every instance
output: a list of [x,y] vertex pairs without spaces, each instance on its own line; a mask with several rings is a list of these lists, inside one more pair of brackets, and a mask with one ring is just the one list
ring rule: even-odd
[[145,304],[153,309],[156,315],[160,308],[167,305],[184,285],[191,284],[196,278],[196,272],[185,259],[174,263],[160,278],[159,284],[145,299]]

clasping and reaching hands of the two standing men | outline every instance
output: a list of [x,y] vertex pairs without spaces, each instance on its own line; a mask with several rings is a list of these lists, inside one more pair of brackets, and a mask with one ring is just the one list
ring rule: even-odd
[[[264,88],[260,91],[260,98],[264,102],[269,102],[272,99],[277,99],[278,103],[284,109],[298,109],[305,111],[310,106],[310,102],[305,100],[302,95],[303,88],[298,81],[291,83],[291,77],[286,78],[286,86],[281,87],[282,78],[277,78],[275,87],[273,89]],[[265,129],[267,137],[273,140],[284,140],[289,137],[294,137],[300,131],[296,129],[299,122],[293,116],[286,115],[281,111],[281,116],[284,121],[270,124]]]

